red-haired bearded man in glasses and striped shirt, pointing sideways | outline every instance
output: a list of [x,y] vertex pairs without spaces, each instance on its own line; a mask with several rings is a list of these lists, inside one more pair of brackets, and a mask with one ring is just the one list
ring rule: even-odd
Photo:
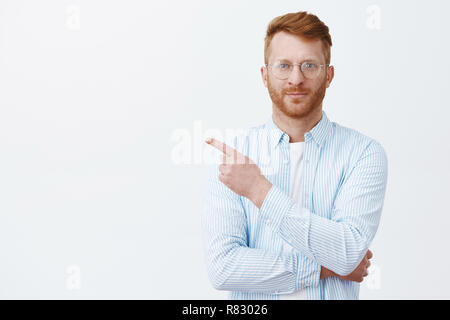
[[[328,27],[277,17],[265,38],[272,116],[208,176],[203,231],[213,286],[231,299],[358,299],[387,181],[382,146],[322,110],[334,76]],[[218,169],[218,170],[217,170]]]

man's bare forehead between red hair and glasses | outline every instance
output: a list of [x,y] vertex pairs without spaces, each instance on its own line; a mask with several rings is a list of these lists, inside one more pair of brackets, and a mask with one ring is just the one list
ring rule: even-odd
[[273,61],[280,58],[292,62],[306,59],[325,60],[322,41],[278,32],[270,43],[269,60]]

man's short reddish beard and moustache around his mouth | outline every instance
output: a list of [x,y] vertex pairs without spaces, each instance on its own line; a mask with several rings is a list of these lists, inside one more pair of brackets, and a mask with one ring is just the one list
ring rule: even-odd
[[[290,88],[282,89],[278,92],[267,79],[267,87],[269,90],[270,99],[272,99],[275,107],[281,111],[284,115],[293,119],[301,119],[310,114],[312,114],[316,109],[318,109],[325,97],[326,78],[321,83],[320,87],[315,90],[307,90],[302,88]],[[306,93],[305,97],[291,98],[287,93],[302,92]],[[286,101],[287,100],[287,101]]]

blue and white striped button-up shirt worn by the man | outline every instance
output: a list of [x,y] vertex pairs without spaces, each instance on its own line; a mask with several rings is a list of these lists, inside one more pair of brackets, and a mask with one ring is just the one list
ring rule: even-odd
[[[261,208],[208,172],[203,245],[214,288],[230,299],[278,299],[306,288],[308,299],[358,299],[350,274],[369,249],[380,221],[387,158],[374,139],[331,122],[324,111],[305,133],[301,202],[290,188],[289,136],[273,122],[248,129],[229,145],[252,159],[273,184]],[[283,252],[283,241],[294,250]]]

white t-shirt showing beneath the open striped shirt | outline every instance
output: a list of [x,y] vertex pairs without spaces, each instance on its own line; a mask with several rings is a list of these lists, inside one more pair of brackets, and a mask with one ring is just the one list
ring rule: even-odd
[[[302,161],[305,142],[289,143],[289,149],[291,165],[289,196],[294,201],[300,202],[300,177],[302,175]],[[287,242],[283,243],[284,252],[291,252],[293,250],[294,249]],[[306,300],[306,289],[301,289],[291,294],[280,294],[279,298],[280,300]]]

